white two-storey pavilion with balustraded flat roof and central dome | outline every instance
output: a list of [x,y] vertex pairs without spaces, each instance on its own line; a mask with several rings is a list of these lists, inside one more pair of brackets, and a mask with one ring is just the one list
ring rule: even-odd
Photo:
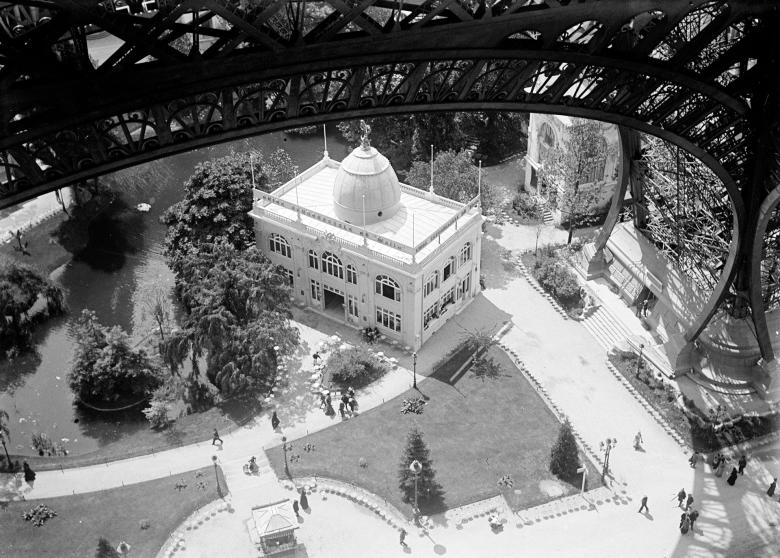
[[417,350],[479,293],[482,214],[401,184],[364,140],[270,194],[255,190],[257,245],[295,301]]

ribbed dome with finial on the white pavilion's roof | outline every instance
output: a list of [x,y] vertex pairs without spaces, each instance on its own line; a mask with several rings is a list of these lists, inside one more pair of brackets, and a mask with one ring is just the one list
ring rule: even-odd
[[333,209],[339,219],[370,225],[395,215],[400,204],[398,177],[379,151],[364,144],[341,162],[333,183]]

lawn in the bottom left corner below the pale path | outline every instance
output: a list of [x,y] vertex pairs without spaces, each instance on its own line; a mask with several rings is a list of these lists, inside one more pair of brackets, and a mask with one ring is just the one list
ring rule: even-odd
[[[218,474],[224,489],[225,479],[219,469]],[[175,485],[180,480],[187,487],[177,490]],[[153,557],[187,516],[219,497],[214,467],[204,467],[102,492],[2,504],[0,555],[88,558],[95,555],[98,538],[105,537],[114,547],[126,541],[132,547],[132,556]],[[43,527],[35,527],[22,517],[38,504],[57,512]],[[148,520],[148,529],[141,529],[142,520]]]

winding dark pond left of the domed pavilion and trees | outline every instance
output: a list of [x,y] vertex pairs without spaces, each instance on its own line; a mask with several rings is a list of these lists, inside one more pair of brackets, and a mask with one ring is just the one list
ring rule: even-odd
[[[130,213],[132,217],[123,219],[119,226],[116,222],[94,224],[89,263],[71,261],[52,274],[66,292],[69,313],[38,329],[33,351],[13,362],[0,362],[0,409],[9,414],[11,453],[32,455],[30,440],[34,433],[47,434],[69,454],[83,454],[148,428],[138,411],[92,413],[74,404],[65,379],[73,355],[72,325],[82,309],[88,308],[101,323],[122,326],[136,341],[147,335],[153,324],[143,312],[144,297],[156,286],[173,286],[173,275],[162,253],[165,226],[160,216],[181,200],[182,183],[197,163],[221,157],[231,149],[250,147],[264,153],[283,147],[303,170],[322,157],[322,134],[268,134],[119,173],[140,177],[133,181],[132,188],[121,192],[122,201],[131,208],[148,203],[151,209]],[[335,127],[328,130],[328,147],[337,159],[346,154]]]

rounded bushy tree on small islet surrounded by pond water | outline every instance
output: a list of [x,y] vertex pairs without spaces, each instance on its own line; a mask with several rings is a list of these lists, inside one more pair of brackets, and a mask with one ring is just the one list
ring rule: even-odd
[[84,310],[74,326],[76,351],[68,385],[79,399],[109,402],[149,395],[161,383],[158,367],[143,349],[130,347],[127,333],[100,324]]

